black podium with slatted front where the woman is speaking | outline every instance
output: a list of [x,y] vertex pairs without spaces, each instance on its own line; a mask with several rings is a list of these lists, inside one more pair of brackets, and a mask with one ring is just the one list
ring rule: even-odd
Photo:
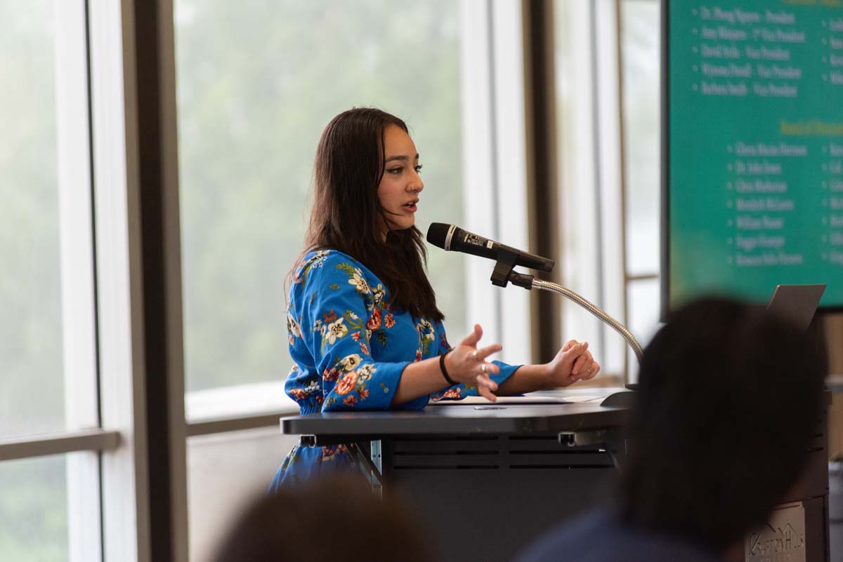
[[[612,395],[607,403],[622,403],[624,396],[617,394],[622,390],[542,395],[562,400]],[[613,400],[617,396],[620,400]],[[281,427],[301,435],[303,444],[353,443],[352,453],[375,493],[400,490],[427,523],[443,562],[508,562],[540,533],[614,495],[629,413],[628,407],[602,406],[600,400],[454,404],[290,416]],[[829,560],[824,427],[812,445],[806,484],[785,498],[804,506],[807,562]],[[681,490],[676,493],[681,501]]]

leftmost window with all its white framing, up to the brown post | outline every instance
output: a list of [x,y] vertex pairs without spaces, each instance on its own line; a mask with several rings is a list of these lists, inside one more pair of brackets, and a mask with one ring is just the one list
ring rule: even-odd
[[114,4],[0,0],[0,559],[131,562],[148,540],[127,281],[127,19]]

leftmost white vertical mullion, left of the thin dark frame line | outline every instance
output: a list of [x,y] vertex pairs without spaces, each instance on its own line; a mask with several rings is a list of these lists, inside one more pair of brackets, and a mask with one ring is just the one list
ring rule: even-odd
[[[94,321],[94,250],[88,37],[84,0],[56,8],[56,144],[62,286],[65,427],[99,426]],[[99,435],[89,436],[98,438]],[[9,445],[6,453],[66,452],[87,437]],[[75,444],[74,444],[75,443]],[[84,445],[82,445],[84,448]],[[102,559],[99,459],[67,455],[67,542],[70,562]]]

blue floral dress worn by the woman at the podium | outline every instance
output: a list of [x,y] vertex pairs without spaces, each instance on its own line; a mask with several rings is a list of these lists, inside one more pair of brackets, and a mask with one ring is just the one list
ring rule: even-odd
[[[293,368],[287,395],[301,413],[349,410],[421,410],[428,400],[459,400],[477,395],[466,384],[444,386],[393,406],[404,368],[437,357],[451,347],[441,321],[415,318],[389,305],[389,291],[374,273],[336,250],[307,253],[293,273],[287,308]],[[491,379],[501,384],[518,366],[497,363]],[[352,469],[346,445],[302,447],[284,459],[270,490],[295,484],[323,471]]]

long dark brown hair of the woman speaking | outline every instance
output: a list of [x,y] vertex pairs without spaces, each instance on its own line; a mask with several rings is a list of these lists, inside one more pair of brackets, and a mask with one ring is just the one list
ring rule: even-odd
[[[314,160],[314,194],[304,236],[304,252],[338,250],[357,259],[389,289],[390,304],[411,315],[443,320],[436,294],[427,280],[427,250],[412,226],[390,230],[378,199],[384,177],[384,131],[407,125],[380,109],[349,109],[330,120]],[[295,267],[298,267],[298,261]]]

